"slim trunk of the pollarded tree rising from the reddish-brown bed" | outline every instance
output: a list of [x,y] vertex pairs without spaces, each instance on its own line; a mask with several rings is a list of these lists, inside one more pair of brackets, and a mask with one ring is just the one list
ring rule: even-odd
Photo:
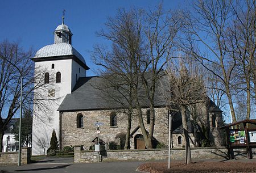
[[191,150],[190,150],[190,144],[189,144],[187,115],[186,115],[185,106],[181,106],[181,117],[182,117],[183,133],[185,137],[186,164],[189,164],[191,163]]

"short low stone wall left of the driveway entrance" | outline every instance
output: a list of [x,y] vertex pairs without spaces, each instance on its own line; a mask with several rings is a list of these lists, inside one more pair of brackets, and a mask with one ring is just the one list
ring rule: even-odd
[[[18,164],[18,152],[5,152],[0,153],[0,164]],[[31,157],[31,147],[24,147],[21,151],[21,164],[27,164],[30,163],[30,157]]]

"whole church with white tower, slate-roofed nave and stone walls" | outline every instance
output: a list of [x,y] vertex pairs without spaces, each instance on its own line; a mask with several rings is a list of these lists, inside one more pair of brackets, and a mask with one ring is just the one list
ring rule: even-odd
[[[100,77],[87,77],[84,57],[72,47],[72,32],[64,24],[57,26],[54,33],[54,44],[46,45],[36,52],[35,74],[42,74],[42,80],[35,79],[36,88],[32,125],[32,155],[43,155],[49,147],[53,129],[58,140],[59,149],[65,146],[82,145],[90,149],[98,137],[97,126],[101,123],[100,139],[105,144],[120,142],[118,138],[126,133],[127,123],[125,110],[116,104],[102,99],[100,91],[95,87]],[[156,94],[154,139],[156,144],[168,144],[169,111],[160,94]],[[201,121],[198,126],[190,121],[189,136],[191,145],[200,144],[200,126],[207,126],[209,136],[214,145],[222,145],[222,111],[209,100],[200,106]],[[144,124],[149,128],[149,108],[143,106]],[[172,119],[172,146],[184,147],[185,140],[179,113]],[[137,118],[134,116],[130,134],[131,149],[145,149],[142,132]]]

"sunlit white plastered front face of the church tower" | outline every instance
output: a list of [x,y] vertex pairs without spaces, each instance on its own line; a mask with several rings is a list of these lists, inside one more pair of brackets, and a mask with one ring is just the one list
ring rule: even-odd
[[[42,87],[35,90],[39,94],[35,94],[35,100],[40,100],[38,105],[34,102],[33,125],[32,125],[32,155],[43,155],[44,149],[40,146],[42,142],[46,142],[46,150],[49,147],[52,130],[55,129],[56,136],[59,134],[59,111],[57,108],[72,90],[71,74],[73,60],[57,60],[35,62],[35,69],[43,74],[49,73],[49,83],[43,84]],[[52,69],[54,64],[54,69]],[[60,71],[61,82],[56,83],[56,73]],[[36,74],[35,74],[36,75]],[[42,81],[44,82],[44,81]],[[55,97],[48,96],[48,90],[55,90]]]

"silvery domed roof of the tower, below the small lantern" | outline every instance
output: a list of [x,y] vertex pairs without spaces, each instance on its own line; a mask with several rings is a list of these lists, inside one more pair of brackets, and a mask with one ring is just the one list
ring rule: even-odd
[[46,45],[45,47],[39,49],[38,52],[36,52],[35,57],[32,59],[36,60],[36,58],[52,58],[57,56],[76,56],[82,63],[86,65],[84,57],[82,57],[82,55],[77,52],[77,50],[73,48],[71,44],[68,43]]

